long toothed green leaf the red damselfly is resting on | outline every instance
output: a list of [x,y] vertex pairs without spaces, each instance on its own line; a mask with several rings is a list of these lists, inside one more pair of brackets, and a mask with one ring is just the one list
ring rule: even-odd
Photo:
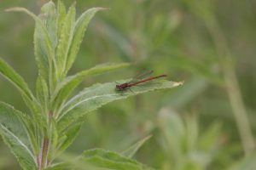
[[[129,82],[131,80],[119,81]],[[143,94],[149,91],[174,88],[183,84],[183,82],[170,81],[154,81],[145,83],[141,86],[132,87],[132,92],[119,92],[115,89],[116,83],[108,82],[104,84],[96,84],[90,88],[85,88],[78,95],[70,99],[61,108],[61,116],[58,119],[58,129],[64,130],[73,122],[81,122],[90,111],[95,111],[102,105],[106,105],[117,99],[125,99],[127,97]]]

